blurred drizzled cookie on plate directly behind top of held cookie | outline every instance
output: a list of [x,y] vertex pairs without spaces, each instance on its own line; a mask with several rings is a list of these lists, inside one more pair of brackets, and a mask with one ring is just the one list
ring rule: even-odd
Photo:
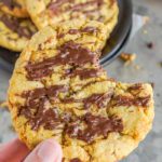
[[70,19],[91,19],[104,23],[109,33],[118,21],[117,0],[27,0],[27,10],[41,29]]

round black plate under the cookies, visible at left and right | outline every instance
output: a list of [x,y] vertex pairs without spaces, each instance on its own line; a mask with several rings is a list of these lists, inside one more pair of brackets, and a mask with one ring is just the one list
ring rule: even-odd
[[[111,63],[125,46],[132,28],[132,1],[131,0],[118,0],[119,3],[119,19],[118,24],[111,33],[110,39],[107,41],[103,55],[100,57],[100,64],[107,65]],[[0,48],[0,66],[12,71],[14,64],[19,53],[9,51]]]

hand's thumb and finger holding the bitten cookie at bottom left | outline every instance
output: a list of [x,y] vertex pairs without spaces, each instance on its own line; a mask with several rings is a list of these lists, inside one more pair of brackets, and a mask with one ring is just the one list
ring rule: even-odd
[[62,162],[62,148],[53,139],[39,144],[31,152],[19,140],[0,145],[0,162]]

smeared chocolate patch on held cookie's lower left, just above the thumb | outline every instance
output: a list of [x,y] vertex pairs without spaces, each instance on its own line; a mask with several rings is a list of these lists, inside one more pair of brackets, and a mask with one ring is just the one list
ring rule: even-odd
[[49,99],[57,99],[59,93],[67,92],[65,85],[54,85],[49,89],[40,87],[25,92],[22,97],[26,98],[26,105],[21,107],[19,116],[25,116],[32,130],[41,125],[46,130],[57,127],[62,121],[56,108],[49,108]]

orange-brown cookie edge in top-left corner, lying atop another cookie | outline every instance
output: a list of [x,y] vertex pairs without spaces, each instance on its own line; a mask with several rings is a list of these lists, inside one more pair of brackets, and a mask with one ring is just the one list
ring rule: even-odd
[[0,10],[16,17],[29,17],[26,0],[1,0]]

